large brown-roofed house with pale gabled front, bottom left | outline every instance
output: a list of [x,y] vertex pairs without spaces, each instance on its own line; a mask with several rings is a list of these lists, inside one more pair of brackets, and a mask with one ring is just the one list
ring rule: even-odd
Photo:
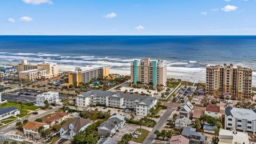
[[62,125],[60,137],[72,139],[79,131],[85,130],[93,121],[89,118],[76,117]]

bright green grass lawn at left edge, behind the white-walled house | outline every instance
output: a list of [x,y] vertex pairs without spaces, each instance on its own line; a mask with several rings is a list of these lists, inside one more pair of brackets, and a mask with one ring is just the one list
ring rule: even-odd
[[34,105],[32,105],[32,106],[28,106],[28,105],[25,105],[25,104],[22,104],[22,105],[24,106],[23,110],[21,110],[21,104],[20,103],[7,101],[7,102],[3,103],[2,105],[0,105],[0,108],[17,107],[20,110],[20,112],[22,113],[22,115],[18,115],[18,117],[26,116],[28,114],[27,110],[36,110],[36,109],[39,108],[39,107],[36,107]]

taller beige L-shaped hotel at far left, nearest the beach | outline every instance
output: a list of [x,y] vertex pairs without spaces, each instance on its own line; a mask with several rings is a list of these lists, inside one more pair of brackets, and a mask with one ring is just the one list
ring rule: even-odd
[[19,71],[26,71],[26,70],[32,70],[32,69],[38,69],[38,70],[46,70],[46,75],[44,78],[50,78],[55,77],[59,75],[59,66],[57,63],[52,62],[41,62],[41,63],[28,63],[27,60],[22,60],[21,63],[18,65]]

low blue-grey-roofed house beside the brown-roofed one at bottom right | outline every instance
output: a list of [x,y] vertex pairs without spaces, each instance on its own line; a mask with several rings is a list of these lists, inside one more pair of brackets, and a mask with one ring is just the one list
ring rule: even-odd
[[184,127],[181,135],[188,138],[190,142],[204,143],[206,139],[204,134],[196,132],[196,129],[192,127]]

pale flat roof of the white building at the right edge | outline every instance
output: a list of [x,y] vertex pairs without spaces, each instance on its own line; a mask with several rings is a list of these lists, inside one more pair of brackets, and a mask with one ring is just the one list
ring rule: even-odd
[[233,116],[238,119],[247,119],[250,121],[256,121],[256,113],[251,109],[235,108],[235,107],[226,107],[225,108],[226,116]]

